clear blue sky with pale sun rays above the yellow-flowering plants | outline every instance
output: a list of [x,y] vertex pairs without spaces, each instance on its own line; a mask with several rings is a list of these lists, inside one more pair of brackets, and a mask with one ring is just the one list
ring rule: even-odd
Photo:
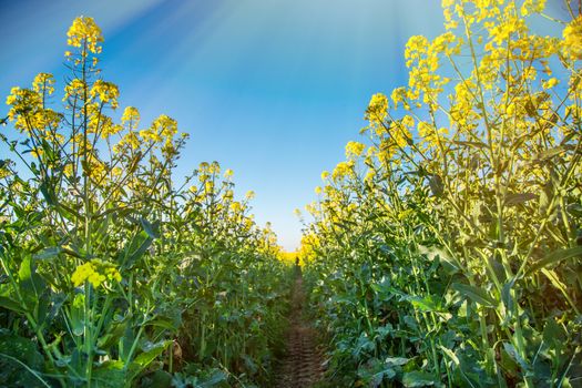
[[442,30],[440,0],[0,0],[0,94],[41,71],[62,89],[65,32],[81,14],[103,30],[103,76],[121,105],[191,134],[177,173],[233,169],[287,249],[300,237],[293,211],[358,139],[370,95],[407,82],[408,38]]

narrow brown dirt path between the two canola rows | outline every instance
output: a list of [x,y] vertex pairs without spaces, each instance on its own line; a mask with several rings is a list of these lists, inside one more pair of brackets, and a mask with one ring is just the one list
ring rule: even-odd
[[274,386],[276,388],[308,388],[321,380],[323,357],[316,347],[317,336],[313,324],[304,317],[304,304],[303,278],[298,275],[292,293],[287,355],[282,360]]

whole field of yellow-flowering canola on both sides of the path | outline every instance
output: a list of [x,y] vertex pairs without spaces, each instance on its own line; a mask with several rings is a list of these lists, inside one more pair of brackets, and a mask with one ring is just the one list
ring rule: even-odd
[[442,1],[408,85],[323,173],[297,254],[231,170],[173,176],[187,135],[118,106],[75,19],[63,88],[40,73],[7,98],[0,385],[582,387],[574,3],[545,37],[543,0]]

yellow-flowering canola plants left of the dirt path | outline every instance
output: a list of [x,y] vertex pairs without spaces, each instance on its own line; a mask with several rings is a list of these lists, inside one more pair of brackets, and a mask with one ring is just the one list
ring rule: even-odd
[[[268,380],[288,285],[276,238],[202,163],[176,185],[186,141],[150,126],[98,69],[91,18],[69,30],[70,69],[7,99],[0,133],[0,385],[211,387]],[[19,140],[12,140],[17,137]]]

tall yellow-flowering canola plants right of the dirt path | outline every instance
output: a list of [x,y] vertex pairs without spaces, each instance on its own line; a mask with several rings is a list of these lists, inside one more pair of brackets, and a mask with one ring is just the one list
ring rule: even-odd
[[302,249],[336,386],[582,384],[574,4],[445,0],[445,33],[410,38],[408,85],[324,173]]

